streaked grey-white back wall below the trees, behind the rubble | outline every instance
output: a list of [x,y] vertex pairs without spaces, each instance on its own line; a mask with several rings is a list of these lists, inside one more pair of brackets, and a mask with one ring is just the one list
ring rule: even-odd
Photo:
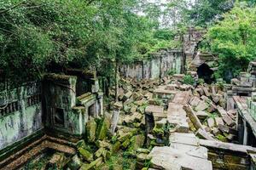
[[162,49],[151,54],[151,59],[136,61],[131,65],[122,65],[119,69],[123,77],[154,79],[166,76],[167,71],[183,71],[183,52],[181,50]]

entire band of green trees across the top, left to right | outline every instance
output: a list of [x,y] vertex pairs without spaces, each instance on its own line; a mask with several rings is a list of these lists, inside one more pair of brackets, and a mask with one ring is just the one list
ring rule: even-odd
[[24,82],[67,67],[93,67],[110,77],[119,63],[180,47],[173,39],[188,26],[207,28],[202,49],[219,57],[215,76],[236,76],[254,59],[254,0],[160,2],[3,0],[1,79]]

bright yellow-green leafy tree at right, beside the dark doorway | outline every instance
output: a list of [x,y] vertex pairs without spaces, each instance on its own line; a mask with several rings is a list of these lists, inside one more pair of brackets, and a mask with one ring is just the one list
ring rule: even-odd
[[255,59],[256,8],[236,5],[223,17],[224,20],[209,29],[207,42],[212,53],[218,54],[216,75],[229,79],[246,71],[249,61]]

